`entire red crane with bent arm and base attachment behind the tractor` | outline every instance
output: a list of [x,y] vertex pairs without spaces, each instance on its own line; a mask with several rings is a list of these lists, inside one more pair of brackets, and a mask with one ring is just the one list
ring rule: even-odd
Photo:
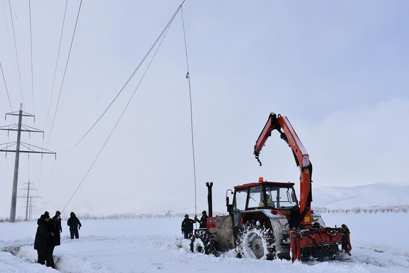
[[302,257],[333,256],[338,253],[338,244],[346,253],[351,251],[349,229],[343,224],[342,227],[322,227],[318,223],[311,223],[312,201],[312,164],[309,156],[301,143],[296,131],[292,128],[287,117],[281,117],[271,112],[267,123],[261,131],[254,146],[254,154],[260,163],[260,151],[265,145],[271,132],[277,130],[287,145],[291,148],[300,169],[300,215],[296,227],[284,231],[290,236],[292,260],[301,260]]

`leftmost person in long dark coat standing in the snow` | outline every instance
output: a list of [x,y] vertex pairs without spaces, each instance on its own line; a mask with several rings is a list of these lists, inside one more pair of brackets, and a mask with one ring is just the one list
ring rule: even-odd
[[43,214],[37,220],[37,233],[34,239],[34,249],[37,251],[39,264],[45,264],[47,259],[47,246],[50,236],[53,234],[49,232],[48,223],[50,221],[50,216]]

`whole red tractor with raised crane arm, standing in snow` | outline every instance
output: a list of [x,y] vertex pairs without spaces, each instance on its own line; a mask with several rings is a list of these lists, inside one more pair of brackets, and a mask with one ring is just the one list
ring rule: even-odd
[[[286,117],[270,113],[268,121],[254,146],[259,154],[277,130],[292,149],[300,169],[300,201],[294,183],[265,181],[249,183],[226,191],[229,215],[212,215],[212,186],[207,183],[209,218],[206,229],[196,229],[191,238],[194,253],[216,254],[216,251],[236,249],[238,257],[266,259],[335,258],[340,251],[350,255],[348,227],[327,227],[319,214],[311,211],[312,164],[308,154]],[[233,195],[233,202],[229,201]],[[338,247],[340,245],[340,248]]]

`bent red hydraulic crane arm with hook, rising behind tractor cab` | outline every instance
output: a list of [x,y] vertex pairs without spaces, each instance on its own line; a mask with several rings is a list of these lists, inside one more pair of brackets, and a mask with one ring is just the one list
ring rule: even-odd
[[260,163],[259,155],[260,151],[265,145],[267,139],[271,137],[271,132],[277,130],[280,133],[280,138],[284,140],[291,148],[296,160],[296,164],[300,169],[300,218],[299,223],[303,226],[311,226],[311,177],[312,177],[312,164],[309,161],[309,156],[305,150],[303,144],[296,131],[292,128],[287,117],[281,117],[276,113],[271,112],[268,117],[268,121],[261,131],[259,138],[254,145],[254,154],[257,161]]

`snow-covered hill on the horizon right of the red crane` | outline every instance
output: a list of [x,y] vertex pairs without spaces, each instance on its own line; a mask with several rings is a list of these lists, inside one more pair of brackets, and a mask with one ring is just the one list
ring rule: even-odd
[[353,209],[409,205],[409,186],[376,183],[356,187],[321,187],[312,190],[312,207]]

